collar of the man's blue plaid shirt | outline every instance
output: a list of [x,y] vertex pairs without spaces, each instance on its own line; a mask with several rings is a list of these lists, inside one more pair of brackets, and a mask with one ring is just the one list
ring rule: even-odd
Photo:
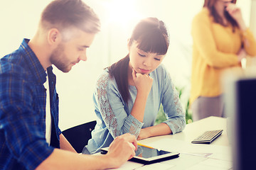
[[19,50],[23,52],[23,56],[27,61],[29,69],[31,69],[32,74],[36,77],[38,80],[38,83],[43,84],[46,82],[46,71],[43,69],[43,66],[38,60],[38,57],[36,57],[33,50],[31,50],[31,47],[28,46],[29,40],[24,38],[21,46],[19,47]]

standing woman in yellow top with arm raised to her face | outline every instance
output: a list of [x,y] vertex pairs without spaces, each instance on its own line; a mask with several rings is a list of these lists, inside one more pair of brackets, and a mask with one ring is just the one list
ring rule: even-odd
[[255,39],[235,3],[236,0],[205,0],[203,10],[193,18],[193,120],[223,116],[221,74],[230,67],[241,67],[246,55],[256,55]]

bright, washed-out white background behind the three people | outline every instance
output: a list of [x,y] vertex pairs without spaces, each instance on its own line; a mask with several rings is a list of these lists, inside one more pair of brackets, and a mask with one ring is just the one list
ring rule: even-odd
[[[87,61],[68,73],[54,67],[60,97],[60,129],[95,120],[92,94],[102,69],[127,55],[127,39],[142,18],[156,17],[166,23],[169,51],[163,64],[169,69],[183,108],[188,110],[192,38],[191,21],[203,0],[84,0],[100,17],[102,28],[87,50]],[[0,58],[16,50],[23,38],[36,33],[41,11],[50,0],[9,0],[0,2]],[[247,26],[256,34],[255,0],[238,0]],[[252,6],[255,6],[252,10]],[[189,114],[189,113],[188,113]]]

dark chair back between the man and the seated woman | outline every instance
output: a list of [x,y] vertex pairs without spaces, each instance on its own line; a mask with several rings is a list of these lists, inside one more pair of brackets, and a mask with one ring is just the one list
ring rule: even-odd
[[82,125],[77,125],[73,128],[63,130],[63,135],[70,142],[76,152],[81,153],[82,149],[87,145],[88,140],[92,138],[91,132],[94,130],[96,120]]

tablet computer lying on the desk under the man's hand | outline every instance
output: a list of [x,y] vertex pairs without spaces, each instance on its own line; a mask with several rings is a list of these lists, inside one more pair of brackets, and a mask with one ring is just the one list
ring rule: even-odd
[[[102,154],[107,154],[108,147],[100,149]],[[161,149],[154,149],[151,147],[139,146],[135,152],[135,156],[129,161],[138,162],[141,164],[153,164],[169,159],[179,157],[178,152],[169,152]]]

